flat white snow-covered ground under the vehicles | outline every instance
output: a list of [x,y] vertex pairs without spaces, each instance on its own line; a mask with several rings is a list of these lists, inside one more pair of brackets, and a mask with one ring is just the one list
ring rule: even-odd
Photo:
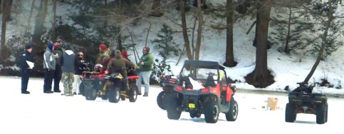
[[[0,133],[328,133],[338,132],[343,122],[343,98],[328,98],[328,123],[316,124],[316,115],[298,114],[295,123],[284,121],[286,93],[239,90],[236,121],[226,121],[223,113],[215,124],[182,113],[179,120],[167,118],[157,106],[159,86],[151,86],[150,96],[128,100],[85,100],[83,96],[43,93],[43,79],[31,78],[28,91],[20,93],[19,77],[0,76]],[[62,83],[61,83],[62,86]],[[278,98],[277,110],[266,110],[266,100]]]

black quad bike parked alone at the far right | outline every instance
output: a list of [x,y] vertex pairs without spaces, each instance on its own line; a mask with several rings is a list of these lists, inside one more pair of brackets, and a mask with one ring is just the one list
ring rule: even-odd
[[314,86],[306,83],[298,83],[298,85],[298,88],[288,93],[286,122],[293,123],[298,113],[307,113],[316,115],[316,123],[326,123],[328,120],[327,97],[321,93],[312,93]]

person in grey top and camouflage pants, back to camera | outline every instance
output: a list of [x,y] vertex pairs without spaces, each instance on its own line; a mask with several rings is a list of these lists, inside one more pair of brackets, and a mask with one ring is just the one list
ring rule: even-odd
[[66,46],[66,51],[63,52],[63,56],[60,59],[62,70],[62,83],[63,92],[61,96],[73,96],[73,82],[74,82],[74,68],[75,68],[75,53],[71,51],[71,48]]

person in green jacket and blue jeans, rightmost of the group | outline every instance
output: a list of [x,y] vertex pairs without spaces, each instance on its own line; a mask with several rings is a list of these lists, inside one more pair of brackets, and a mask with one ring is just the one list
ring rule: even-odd
[[152,53],[150,53],[150,48],[145,47],[142,50],[142,57],[140,58],[140,62],[138,63],[138,67],[140,68],[139,79],[136,81],[136,85],[139,91],[139,95],[141,95],[141,83],[142,81],[145,83],[145,94],[143,96],[148,96],[150,91],[150,75],[152,74],[152,65],[154,63],[154,57]]

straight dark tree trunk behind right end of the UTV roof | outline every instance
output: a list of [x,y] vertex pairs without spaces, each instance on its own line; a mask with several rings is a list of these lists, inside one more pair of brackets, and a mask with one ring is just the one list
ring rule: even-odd
[[233,0],[227,0],[226,4],[226,61],[224,66],[234,67],[236,62],[234,61],[233,50]]

